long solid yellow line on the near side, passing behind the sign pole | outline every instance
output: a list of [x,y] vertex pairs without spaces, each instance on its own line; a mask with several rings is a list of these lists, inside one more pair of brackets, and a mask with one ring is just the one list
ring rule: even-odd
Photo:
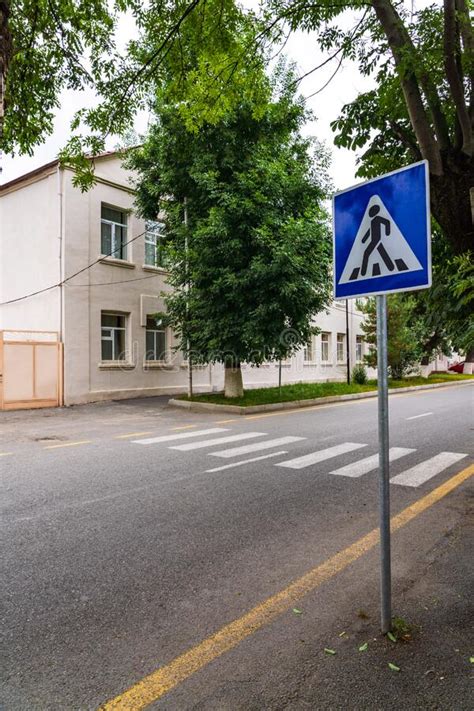
[[[429,509],[437,501],[447,496],[460,484],[474,474],[474,465],[463,469],[445,481],[423,498],[407,506],[391,519],[392,531],[405,526],[412,519]],[[217,657],[236,647],[242,640],[258,629],[272,622],[276,617],[289,610],[300,598],[312,592],[322,583],[333,578],[351,563],[370,551],[379,541],[379,531],[374,529],[359,538],[339,553],[328,558],[324,563],[303,575],[287,588],[272,595],[250,612],[222,627],[212,637],[208,637],[184,654],[173,659],[169,664],[157,669],[141,681],[134,684],[123,694],[107,701],[101,706],[102,711],[139,711],[175,686],[199,671]]]

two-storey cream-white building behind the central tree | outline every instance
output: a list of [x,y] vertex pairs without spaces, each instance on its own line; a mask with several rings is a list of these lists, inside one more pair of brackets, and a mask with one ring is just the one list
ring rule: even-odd
[[[187,363],[152,318],[169,288],[160,225],[134,215],[117,154],[94,162],[87,193],[58,161],[0,186],[0,407],[56,404],[54,388],[66,405],[186,390]],[[361,321],[349,302],[351,365],[364,354]],[[283,383],[345,379],[345,302],[315,323],[322,332],[282,364]],[[244,385],[277,385],[278,373],[274,363],[244,365]],[[220,366],[193,369],[196,391],[222,389],[223,379]]]

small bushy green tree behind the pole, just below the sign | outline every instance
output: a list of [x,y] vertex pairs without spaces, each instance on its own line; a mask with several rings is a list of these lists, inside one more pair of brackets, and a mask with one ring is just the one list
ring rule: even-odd
[[[360,303],[365,314],[362,331],[367,343],[372,346],[365,362],[372,368],[377,367],[377,312],[376,300],[369,298]],[[399,379],[413,372],[419,365],[422,354],[422,324],[414,320],[415,299],[404,294],[391,294],[387,297],[387,362],[389,375]]]

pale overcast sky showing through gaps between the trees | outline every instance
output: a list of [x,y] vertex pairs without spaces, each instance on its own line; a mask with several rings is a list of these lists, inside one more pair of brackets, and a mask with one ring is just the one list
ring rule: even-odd
[[[348,15],[346,17],[346,21],[349,23],[348,26],[355,24],[358,17],[358,15],[352,13]],[[119,27],[118,39],[124,45],[130,37],[130,22],[124,21]],[[294,33],[290,37],[285,48],[285,54],[289,59],[297,63],[300,75],[312,69],[327,56],[319,50],[314,34],[300,32]],[[323,87],[334,72],[337,61],[337,59],[333,60],[326,67],[314,72],[301,82],[301,93],[304,96],[310,96]],[[330,147],[332,153],[330,174],[336,189],[342,189],[352,185],[354,182],[358,182],[355,179],[356,154],[334,146],[330,123],[337,118],[344,104],[352,101],[360,92],[366,91],[370,86],[371,80],[361,76],[355,64],[345,61],[329,85],[321,93],[308,99],[308,106],[313,110],[316,120],[307,125],[305,132],[315,135]],[[15,156],[12,158],[11,156],[3,155],[3,170],[0,182],[8,182],[53,160],[58,150],[66,143],[69,137],[69,123],[75,111],[95,102],[96,98],[92,91],[64,92],[61,97],[61,109],[56,117],[54,133],[46,139],[43,145],[36,149],[32,157]],[[135,128],[138,133],[145,131],[147,121],[148,115],[146,113],[142,113],[137,117]],[[111,138],[108,148],[113,148],[116,143],[117,138]]]

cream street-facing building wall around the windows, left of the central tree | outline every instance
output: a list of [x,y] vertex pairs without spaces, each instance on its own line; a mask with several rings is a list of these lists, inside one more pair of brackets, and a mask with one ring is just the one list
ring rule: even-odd
[[[128,189],[129,173],[117,157],[96,162],[97,184],[81,193],[65,177],[65,273],[71,275],[101,255],[101,204],[132,210],[134,194]],[[164,310],[162,292],[166,274],[144,265],[145,224],[130,214],[127,260],[102,260],[65,287],[65,401],[75,404],[176,393],[186,389],[187,368],[177,355],[169,365],[145,364],[147,313]],[[126,315],[127,358],[124,363],[101,362],[101,312]],[[168,332],[169,347],[174,345]],[[171,355],[171,353],[170,353]],[[194,374],[197,390],[209,389],[208,369]]]

